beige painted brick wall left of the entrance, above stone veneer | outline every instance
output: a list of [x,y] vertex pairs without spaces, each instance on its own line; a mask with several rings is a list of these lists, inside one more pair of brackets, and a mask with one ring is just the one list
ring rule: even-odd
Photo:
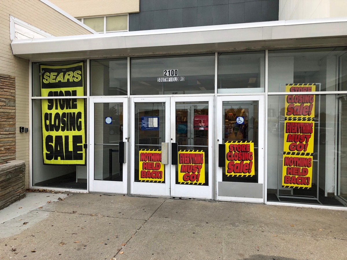
[[28,187],[29,133],[19,133],[19,127],[29,127],[29,61],[12,55],[10,15],[54,36],[91,34],[91,32],[39,0],[1,1],[0,74],[15,77],[16,159],[25,161],[25,184]]

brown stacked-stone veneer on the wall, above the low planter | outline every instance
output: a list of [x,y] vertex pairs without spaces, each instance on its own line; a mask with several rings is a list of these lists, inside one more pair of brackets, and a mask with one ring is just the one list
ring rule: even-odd
[[16,158],[15,77],[0,74],[0,164]]

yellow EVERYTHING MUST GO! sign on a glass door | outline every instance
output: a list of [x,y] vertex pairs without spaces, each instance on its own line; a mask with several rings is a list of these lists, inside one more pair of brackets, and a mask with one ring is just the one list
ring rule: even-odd
[[205,183],[205,152],[195,150],[178,151],[178,183]]

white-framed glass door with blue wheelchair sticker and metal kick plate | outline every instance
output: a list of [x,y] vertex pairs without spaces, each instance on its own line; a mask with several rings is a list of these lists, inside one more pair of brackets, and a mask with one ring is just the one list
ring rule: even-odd
[[217,97],[218,200],[264,203],[264,120],[264,96]]

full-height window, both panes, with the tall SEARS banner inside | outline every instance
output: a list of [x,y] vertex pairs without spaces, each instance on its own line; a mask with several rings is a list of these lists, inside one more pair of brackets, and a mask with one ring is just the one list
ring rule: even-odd
[[[33,64],[33,185],[87,189],[85,62]],[[45,98],[54,97],[54,98]]]

